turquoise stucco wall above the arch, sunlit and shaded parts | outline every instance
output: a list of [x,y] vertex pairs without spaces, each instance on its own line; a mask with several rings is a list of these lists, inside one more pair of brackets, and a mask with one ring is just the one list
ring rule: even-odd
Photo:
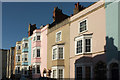
[[[107,54],[107,62],[110,63],[112,59],[118,60],[120,50],[120,22],[119,20],[119,6],[118,2],[109,2],[105,4],[105,11],[106,11],[106,54]],[[119,11],[119,12],[118,12]]]

